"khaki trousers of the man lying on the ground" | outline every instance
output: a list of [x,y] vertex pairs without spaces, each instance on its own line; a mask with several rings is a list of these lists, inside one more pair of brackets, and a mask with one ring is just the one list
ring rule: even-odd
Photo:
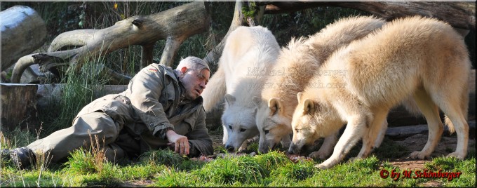
[[[114,143],[120,141],[127,144],[128,150],[139,149],[138,142],[127,134],[121,134],[123,125],[115,123],[113,119],[103,112],[92,112],[76,117],[73,126],[58,130],[47,137],[32,142],[27,148],[32,149],[36,157],[44,156],[48,161],[62,161],[75,149],[89,150],[91,137],[94,145],[105,149],[107,160],[116,161],[126,156],[126,152]],[[95,142],[98,136],[99,143]],[[120,139],[118,139],[120,137]],[[104,142],[103,142],[104,138]],[[128,151],[130,152],[130,151]]]

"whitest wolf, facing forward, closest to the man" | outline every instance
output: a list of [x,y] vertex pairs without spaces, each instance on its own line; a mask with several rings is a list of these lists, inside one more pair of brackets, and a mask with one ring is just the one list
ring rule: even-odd
[[207,112],[225,98],[222,125],[227,149],[245,149],[246,140],[258,135],[252,98],[260,96],[279,51],[265,27],[238,27],[227,37],[219,68],[202,94]]

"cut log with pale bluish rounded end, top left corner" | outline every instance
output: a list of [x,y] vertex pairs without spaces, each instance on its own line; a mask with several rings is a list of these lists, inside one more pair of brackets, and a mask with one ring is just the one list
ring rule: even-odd
[[0,12],[1,71],[18,58],[32,53],[46,41],[46,26],[40,15],[27,6],[13,6]]

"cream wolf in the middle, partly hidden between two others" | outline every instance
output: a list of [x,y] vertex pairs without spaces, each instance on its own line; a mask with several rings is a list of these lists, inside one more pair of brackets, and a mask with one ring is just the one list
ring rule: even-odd
[[[297,106],[296,95],[304,89],[321,63],[333,51],[366,36],[384,23],[384,20],[365,16],[343,18],[309,36],[307,40],[292,39],[286,48],[282,48],[273,72],[283,74],[271,76],[267,83],[274,83],[274,86],[264,88],[262,98],[254,99],[259,107],[259,152],[268,152],[281,139],[283,147],[288,147],[289,135],[293,133],[291,122]],[[333,140],[335,139],[326,139],[321,151],[314,155],[323,157],[330,153],[332,145],[335,144]]]

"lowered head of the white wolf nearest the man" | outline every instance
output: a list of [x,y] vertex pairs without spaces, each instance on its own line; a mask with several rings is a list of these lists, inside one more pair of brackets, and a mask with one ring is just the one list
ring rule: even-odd
[[258,135],[255,114],[256,107],[247,107],[236,102],[233,95],[225,95],[225,109],[222,114],[222,125],[227,130],[227,140],[223,140],[225,148],[237,151],[243,142]]

